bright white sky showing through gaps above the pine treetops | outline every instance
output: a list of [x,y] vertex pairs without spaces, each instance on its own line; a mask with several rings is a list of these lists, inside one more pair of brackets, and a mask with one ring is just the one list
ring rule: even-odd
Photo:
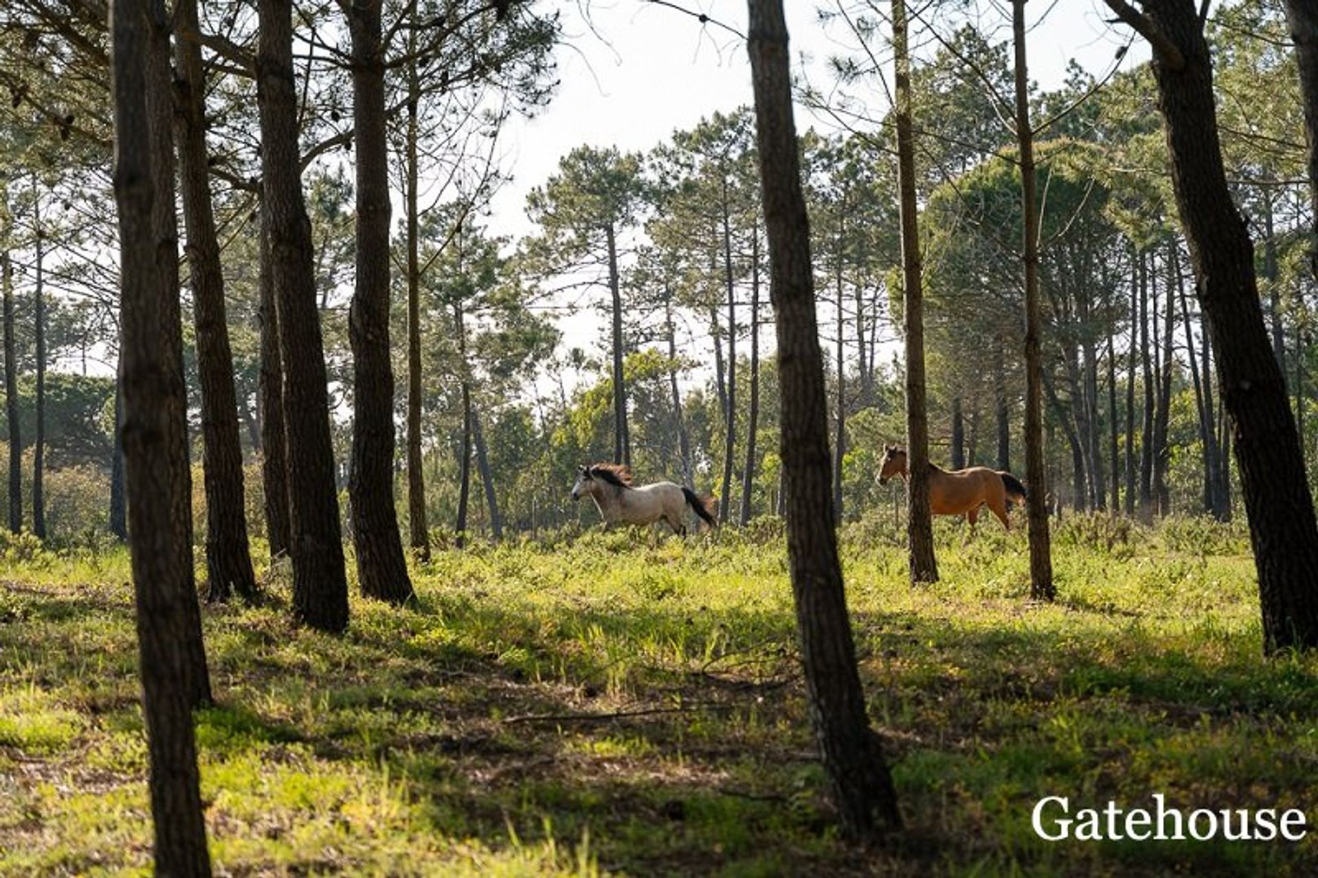
[[[911,0],[908,0],[911,1]],[[745,0],[673,0],[676,5],[706,13],[739,33],[746,32]],[[917,20],[919,0],[911,5],[913,51],[928,46]],[[841,22],[825,28],[817,9],[837,8],[837,0],[784,0],[792,50],[792,73],[805,74],[820,88],[830,86],[825,62],[830,55],[850,54],[849,33]],[[714,111],[730,111],[750,104],[750,62],[745,44],[726,29],[701,24],[692,16],[646,0],[576,0],[563,3],[568,45],[556,51],[559,90],[552,103],[531,120],[510,120],[503,132],[507,150],[505,170],[513,181],[497,192],[489,228],[498,235],[522,236],[535,231],[525,212],[526,194],[548,179],[559,160],[583,144],[617,145],[622,150],[646,152],[671,137],[673,131],[695,127]],[[876,4],[887,11],[888,3]],[[970,0],[981,29],[994,42],[1011,38],[1011,5],[1006,0]],[[583,17],[588,9],[590,20]],[[977,11],[977,12],[975,12]],[[1111,70],[1115,51],[1130,41],[1130,32],[1106,24],[1110,17],[1102,0],[1035,0],[1027,5],[1027,37],[1031,79],[1044,88],[1060,86],[1066,63],[1075,58],[1095,76]],[[1043,21],[1040,21],[1040,18]],[[940,32],[954,22],[937,21]],[[886,25],[883,28],[887,30]],[[804,55],[804,57],[803,57]],[[1148,49],[1135,40],[1122,61],[1124,69],[1144,61]],[[886,71],[891,62],[884,53]],[[876,95],[873,109],[879,116],[883,99]],[[826,119],[797,107],[797,131],[815,127],[832,131]],[[821,319],[826,315],[821,314]],[[564,349],[580,347],[598,355],[601,316],[593,308],[559,320]],[[701,331],[693,339],[706,344]],[[770,344],[771,341],[766,341]],[[888,345],[886,345],[888,347]],[[880,356],[886,360],[891,351]],[[546,385],[542,376],[538,384]],[[587,376],[573,376],[568,385]],[[708,378],[691,374],[688,381]]]

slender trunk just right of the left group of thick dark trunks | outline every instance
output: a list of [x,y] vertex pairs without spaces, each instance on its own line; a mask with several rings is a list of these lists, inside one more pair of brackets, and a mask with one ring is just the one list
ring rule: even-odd
[[[411,0],[409,18],[416,21],[416,0]],[[416,29],[407,30],[407,57],[415,58]],[[420,102],[420,78],[416,62],[407,63],[407,144],[406,144],[406,192],[403,210],[407,220],[407,530],[409,543],[418,560],[430,560],[430,526],[426,521],[426,472],[422,457],[420,414],[420,163],[416,156],[419,138],[416,108]]]

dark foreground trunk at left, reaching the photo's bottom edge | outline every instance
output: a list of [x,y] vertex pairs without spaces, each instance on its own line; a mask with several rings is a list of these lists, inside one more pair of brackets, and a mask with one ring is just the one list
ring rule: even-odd
[[[142,713],[146,720],[156,871],[161,875],[210,875],[202,816],[196,741],[192,732],[195,668],[200,630],[191,625],[192,546],[178,542],[179,497],[187,485],[178,468],[161,465],[178,455],[182,410],[169,337],[179,326],[161,302],[165,291],[158,258],[177,262],[158,235],[158,202],[173,203],[170,187],[157,191],[158,102],[167,94],[159,54],[167,59],[163,9],[142,0],[111,5],[112,92],[115,95],[115,199],[119,206],[120,327],[124,376],[124,454],[132,494],[132,567],[137,609]],[[156,30],[157,33],[152,33]],[[157,51],[157,49],[159,51]],[[166,62],[167,63],[167,62]],[[154,112],[153,112],[154,111]],[[169,178],[171,179],[171,178]],[[191,641],[196,638],[194,645]]]

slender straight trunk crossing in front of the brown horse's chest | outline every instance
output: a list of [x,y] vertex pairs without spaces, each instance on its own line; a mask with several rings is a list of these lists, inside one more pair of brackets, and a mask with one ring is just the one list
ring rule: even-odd
[[911,55],[907,49],[905,0],[892,0],[892,53],[896,67],[898,196],[902,215],[902,291],[905,330],[907,402],[907,539],[911,581],[938,581],[933,555],[933,513],[929,508],[929,423],[924,388],[924,283],[915,191],[913,99]]

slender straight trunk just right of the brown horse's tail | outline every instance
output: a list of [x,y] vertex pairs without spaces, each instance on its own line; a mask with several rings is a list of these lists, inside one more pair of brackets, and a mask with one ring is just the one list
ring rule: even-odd
[[1029,127],[1029,79],[1025,73],[1025,0],[1011,4],[1012,42],[1016,50],[1016,138],[1020,144],[1020,192],[1024,245],[1021,262],[1025,273],[1025,479],[1029,494],[1025,509],[1029,519],[1029,596],[1050,601],[1053,587],[1053,556],[1048,535],[1048,481],[1044,472],[1044,418],[1040,389],[1039,307],[1039,214],[1035,206],[1035,144]]

